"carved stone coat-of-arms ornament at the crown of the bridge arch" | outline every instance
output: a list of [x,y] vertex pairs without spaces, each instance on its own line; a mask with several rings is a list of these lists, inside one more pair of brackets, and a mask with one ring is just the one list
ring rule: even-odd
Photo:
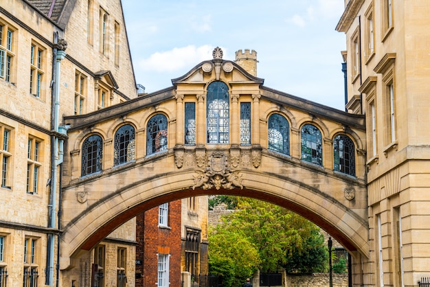
[[227,163],[227,154],[214,152],[210,154],[207,167],[204,170],[196,170],[192,189],[203,188],[210,190],[233,190],[236,187],[243,189],[242,174],[238,170],[231,171]]

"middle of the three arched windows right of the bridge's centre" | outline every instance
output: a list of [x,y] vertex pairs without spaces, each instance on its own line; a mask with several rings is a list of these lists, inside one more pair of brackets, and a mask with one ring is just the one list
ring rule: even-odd
[[302,160],[322,165],[322,137],[318,128],[311,124],[302,127]]

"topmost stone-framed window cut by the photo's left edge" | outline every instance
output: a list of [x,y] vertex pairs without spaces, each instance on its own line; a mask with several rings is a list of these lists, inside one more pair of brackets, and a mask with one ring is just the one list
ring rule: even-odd
[[0,19],[0,78],[6,82],[12,80],[14,60],[14,28]]

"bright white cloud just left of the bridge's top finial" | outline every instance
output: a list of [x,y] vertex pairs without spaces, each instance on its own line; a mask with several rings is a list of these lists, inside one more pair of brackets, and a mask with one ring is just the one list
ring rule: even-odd
[[139,61],[139,67],[144,71],[171,72],[178,71],[184,67],[194,67],[203,60],[212,58],[211,45],[196,47],[188,45],[186,47],[173,48],[170,51],[156,52],[149,58]]

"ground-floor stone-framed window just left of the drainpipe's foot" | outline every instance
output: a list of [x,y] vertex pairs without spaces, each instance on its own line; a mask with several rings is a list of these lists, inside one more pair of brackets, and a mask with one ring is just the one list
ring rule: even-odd
[[24,275],[23,287],[37,287],[38,264],[37,264],[37,239],[25,238],[24,240]]

